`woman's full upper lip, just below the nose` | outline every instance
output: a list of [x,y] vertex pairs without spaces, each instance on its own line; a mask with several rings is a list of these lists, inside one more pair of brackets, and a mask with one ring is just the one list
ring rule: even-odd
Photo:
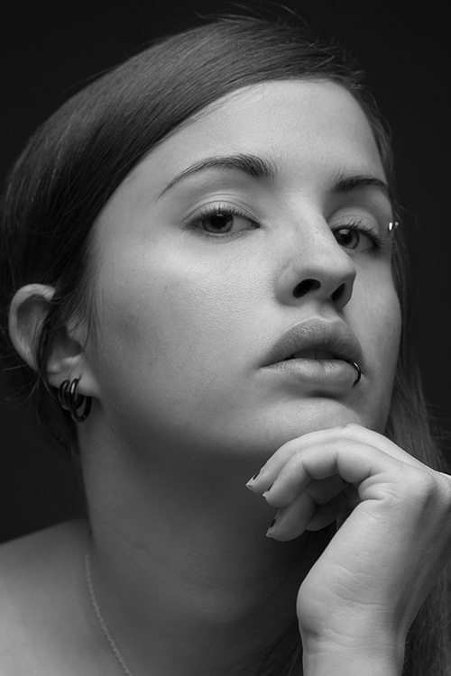
[[324,350],[331,359],[355,361],[362,367],[362,346],[358,338],[342,320],[328,321],[320,317],[306,319],[291,326],[273,344],[265,366],[288,359],[302,350]]

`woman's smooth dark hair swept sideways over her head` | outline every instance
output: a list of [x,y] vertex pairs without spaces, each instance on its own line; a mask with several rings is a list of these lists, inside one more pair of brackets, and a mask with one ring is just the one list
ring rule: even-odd
[[[49,396],[46,361],[68,319],[89,318],[91,229],[108,198],[146,153],[206,105],[240,87],[299,78],[333,81],[354,96],[372,126],[394,189],[390,138],[364,88],[362,72],[345,50],[312,41],[293,19],[287,23],[218,17],[156,41],[71,98],[28,142],[4,196],[2,326],[5,329],[18,288],[29,283],[55,288],[36,336],[38,376],[25,365],[20,375],[37,416],[62,442],[73,439],[73,424]],[[396,236],[393,270],[407,326],[405,251],[402,233]],[[14,359],[4,333],[5,352]],[[404,332],[386,433],[422,461],[439,467],[427,420],[419,372]],[[408,642],[406,674],[451,672],[446,599],[440,589],[420,612]],[[295,647],[274,650],[266,673],[288,674],[290,668],[301,672],[299,639],[288,640]],[[273,666],[282,653],[290,655],[291,667],[282,658]]]

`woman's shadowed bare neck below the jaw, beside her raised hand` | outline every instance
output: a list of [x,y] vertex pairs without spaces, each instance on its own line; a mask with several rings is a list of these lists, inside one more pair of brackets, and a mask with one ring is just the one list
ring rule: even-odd
[[265,537],[274,510],[245,489],[248,467],[218,476],[217,459],[199,473],[86,457],[93,580],[131,671],[256,671],[296,623],[307,538]]

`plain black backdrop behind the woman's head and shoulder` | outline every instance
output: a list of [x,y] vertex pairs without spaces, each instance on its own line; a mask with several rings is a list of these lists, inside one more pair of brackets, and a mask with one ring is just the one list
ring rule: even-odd
[[[253,8],[277,3],[248,2]],[[449,251],[449,47],[446,4],[286,0],[322,38],[336,36],[369,72],[391,124],[400,197],[407,210],[416,286],[417,345],[432,415],[451,458]],[[240,5],[235,4],[237,11]],[[195,13],[221,2],[128,0],[14,2],[0,15],[0,178],[34,128],[91,76]],[[74,471],[23,411],[6,400],[0,373],[0,541],[78,513]]]

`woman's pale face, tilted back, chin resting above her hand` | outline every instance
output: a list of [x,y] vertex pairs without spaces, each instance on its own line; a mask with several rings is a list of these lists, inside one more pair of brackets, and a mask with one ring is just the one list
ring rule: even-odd
[[384,180],[330,82],[246,87],[152,150],[95,228],[87,353],[115,434],[264,458],[319,428],[382,431],[400,336]]

